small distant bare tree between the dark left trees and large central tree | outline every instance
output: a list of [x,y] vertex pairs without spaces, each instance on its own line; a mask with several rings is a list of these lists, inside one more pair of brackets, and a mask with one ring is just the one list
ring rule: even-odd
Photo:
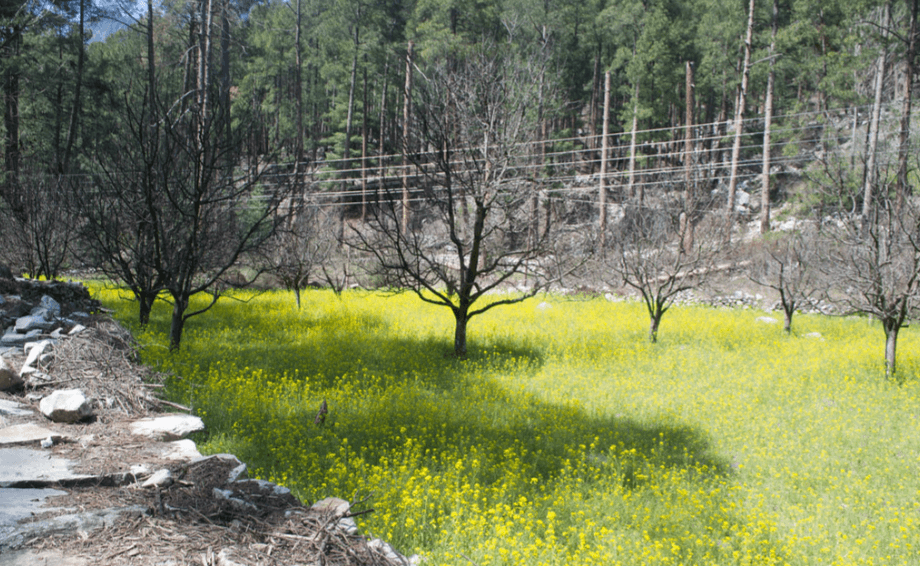
[[322,272],[326,279],[326,263],[334,256],[339,242],[339,214],[306,195],[293,197],[285,204],[284,221],[278,232],[261,252],[266,271],[273,274],[285,289],[294,291],[300,309],[300,292],[310,278]]

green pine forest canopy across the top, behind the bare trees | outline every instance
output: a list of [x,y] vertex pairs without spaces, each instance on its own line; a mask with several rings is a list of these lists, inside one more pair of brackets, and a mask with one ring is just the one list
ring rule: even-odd
[[[534,81],[545,85],[549,137],[595,143],[590,136],[600,132],[606,71],[613,85],[611,133],[628,131],[634,114],[641,131],[680,126],[688,62],[695,121],[731,120],[749,5],[199,0],[157,2],[150,14],[146,8],[92,0],[3,1],[5,185],[30,171],[85,172],[85,156],[118,135],[124,93],[144,88],[148,34],[162,76],[157,88],[161,97],[176,99],[191,84],[201,36],[209,37],[206,87],[214,100],[231,105],[231,127],[246,129],[241,155],[354,159],[364,137],[367,155],[399,150],[410,41],[413,65],[422,71],[483,42],[539,50],[544,63]],[[887,96],[897,96],[904,65],[913,63],[906,60],[911,0],[892,3],[887,22],[884,5],[874,0],[758,0],[753,8],[748,116],[763,111],[771,69],[774,113],[783,115],[868,104],[882,50],[895,70],[888,73]],[[90,24],[105,19],[128,25],[91,42]],[[672,134],[647,134],[655,135]]]

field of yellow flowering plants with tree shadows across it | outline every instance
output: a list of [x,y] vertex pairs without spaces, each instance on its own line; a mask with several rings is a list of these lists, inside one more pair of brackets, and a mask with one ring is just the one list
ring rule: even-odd
[[205,419],[203,452],[306,502],[370,495],[362,532],[427,565],[920,564],[913,328],[899,385],[866,319],[786,336],[674,307],[650,344],[638,303],[537,297],[473,319],[458,360],[449,311],[412,295],[241,292],[170,354],[167,305],[140,331],[97,293]]

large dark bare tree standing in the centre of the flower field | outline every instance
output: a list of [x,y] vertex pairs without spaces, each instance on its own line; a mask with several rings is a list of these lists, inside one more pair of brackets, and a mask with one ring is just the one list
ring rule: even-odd
[[[384,193],[366,230],[350,238],[391,286],[451,310],[454,353],[467,353],[471,318],[517,303],[549,284],[552,227],[528,238],[527,143],[537,139],[537,88],[510,50],[478,46],[420,73],[415,103],[421,181],[411,224],[399,195]],[[487,295],[529,273],[530,286]]]

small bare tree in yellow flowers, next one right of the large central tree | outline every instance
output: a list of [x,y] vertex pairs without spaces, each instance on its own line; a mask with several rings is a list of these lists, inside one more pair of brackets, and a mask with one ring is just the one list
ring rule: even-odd
[[717,268],[728,221],[710,214],[695,226],[692,241],[681,238],[682,203],[636,201],[607,237],[600,260],[611,285],[639,293],[649,316],[649,340],[658,341],[661,319],[678,294],[700,286]]

